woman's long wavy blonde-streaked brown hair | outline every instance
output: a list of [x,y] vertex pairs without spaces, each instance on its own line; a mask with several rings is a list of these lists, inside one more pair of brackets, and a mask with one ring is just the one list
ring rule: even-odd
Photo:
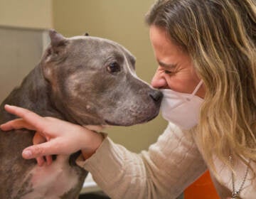
[[166,28],[204,82],[195,136],[210,170],[213,156],[230,169],[230,155],[256,161],[255,0],[159,0],[146,23]]

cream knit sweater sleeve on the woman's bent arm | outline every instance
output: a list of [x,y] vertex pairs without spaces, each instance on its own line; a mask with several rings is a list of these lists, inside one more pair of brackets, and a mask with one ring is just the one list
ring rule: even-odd
[[176,198],[206,171],[193,137],[174,124],[149,151],[134,154],[108,137],[79,166],[90,171],[97,185],[112,199]]

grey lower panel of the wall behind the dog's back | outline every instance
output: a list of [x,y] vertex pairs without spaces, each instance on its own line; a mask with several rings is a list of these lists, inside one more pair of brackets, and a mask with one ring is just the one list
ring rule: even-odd
[[0,101],[21,83],[41,58],[46,31],[0,27]]

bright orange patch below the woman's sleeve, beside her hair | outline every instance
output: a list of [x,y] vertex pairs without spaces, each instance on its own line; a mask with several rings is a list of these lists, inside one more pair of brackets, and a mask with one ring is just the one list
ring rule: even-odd
[[192,183],[184,191],[184,199],[220,199],[210,179],[210,172],[203,175]]

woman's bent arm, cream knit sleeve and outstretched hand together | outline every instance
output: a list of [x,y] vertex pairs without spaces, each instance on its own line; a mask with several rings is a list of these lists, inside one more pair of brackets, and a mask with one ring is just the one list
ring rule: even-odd
[[88,156],[80,156],[78,165],[90,171],[97,184],[113,199],[176,198],[206,171],[192,136],[188,136],[188,132],[185,135],[173,124],[169,124],[149,151],[134,154],[84,127],[40,117],[18,107],[7,106],[6,110],[22,119],[7,122],[1,129],[32,129],[48,139],[46,143],[25,149],[24,158],[72,154],[82,149]]

